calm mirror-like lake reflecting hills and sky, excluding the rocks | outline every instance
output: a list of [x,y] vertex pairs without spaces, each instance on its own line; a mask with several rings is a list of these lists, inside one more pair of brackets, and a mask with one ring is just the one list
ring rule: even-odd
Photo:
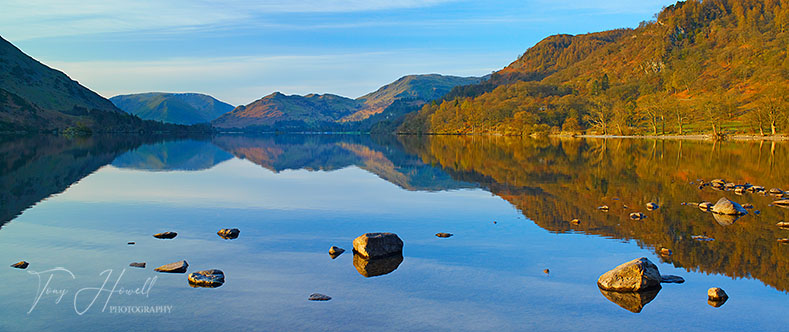
[[[788,148],[480,136],[0,138],[0,330],[785,330],[789,245],[777,239],[789,230],[776,223],[789,221],[789,209],[768,194],[700,189],[700,180],[789,190]],[[753,208],[735,220],[685,204],[721,197]],[[660,207],[648,211],[649,202]],[[647,217],[631,220],[633,212]],[[222,239],[222,228],[240,236]],[[165,231],[178,236],[152,236]],[[353,240],[368,232],[396,233],[402,257],[355,257]],[[331,246],[347,251],[333,259]],[[685,283],[642,295],[597,287],[601,274],[639,257]],[[8,267],[21,260],[27,269]],[[153,271],[181,260],[188,272],[220,269],[226,282],[190,287],[187,274]],[[711,287],[729,300],[708,304]],[[308,301],[312,293],[332,299]]]

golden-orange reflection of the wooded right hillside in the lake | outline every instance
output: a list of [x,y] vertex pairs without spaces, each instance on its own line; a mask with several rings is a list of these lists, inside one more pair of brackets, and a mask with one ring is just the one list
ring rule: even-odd
[[[753,277],[789,289],[789,246],[776,223],[787,210],[769,206],[773,197],[699,190],[698,180],[723,178],[789,189],[786,144],[770,142],[522,139],[505,137],[402,137],[410,153],[440,165],[454,178],[478,183],[516,206],[540,227],[635,240],[661,259],[688,271]],[[751,203],[734,222],[683,202],[728,197]],[[648,202],[661,207],[649,212]],[[609,212],[598,206],[608,205]],[[629,214],[648,217],[632,221]],[[569,220],[579,219],[579,225]],[[727,225],[727,226],[722,226]],[[697,241],[706,235],[715,241]]]

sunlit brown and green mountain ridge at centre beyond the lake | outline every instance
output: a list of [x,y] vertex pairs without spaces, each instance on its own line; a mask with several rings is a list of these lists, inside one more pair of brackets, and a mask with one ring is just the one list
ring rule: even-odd
[[325,94],[286,96],[279,92],[211,122],[221,129],[247,131],[367,131],[382,119],[396,118],[440,98],[477,77],[410,75],[357,99]]

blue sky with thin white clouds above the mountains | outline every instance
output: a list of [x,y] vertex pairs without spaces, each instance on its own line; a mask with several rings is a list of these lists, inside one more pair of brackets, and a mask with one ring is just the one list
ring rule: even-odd
[[635,27],[667,0],[0,0],[0,35],[105,97],[358,97],[408,74],[481,76],[556,33]]

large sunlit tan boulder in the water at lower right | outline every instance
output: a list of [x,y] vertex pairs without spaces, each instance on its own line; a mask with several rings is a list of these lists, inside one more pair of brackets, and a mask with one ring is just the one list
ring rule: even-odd
[[608,291],[638,292],[660,287],[660,271],[646,257],[617,266],[597,279],[597,286]]

